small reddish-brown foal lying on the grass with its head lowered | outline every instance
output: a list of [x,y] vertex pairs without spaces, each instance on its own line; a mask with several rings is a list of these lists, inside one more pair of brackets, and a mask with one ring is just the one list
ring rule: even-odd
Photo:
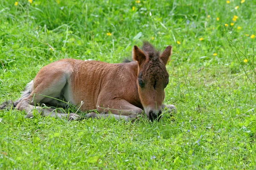
[[[158,120],[164,108],[169,111],[176,109],[174,105],[162,104],[164,88],[169,82],[165,65],[172,47],[166,47],[160,54],[151,44],[144,42],[142,49],[134,46],[135,61],[128,63],[109,64],[77,59],[52,62],[41,68],[35,79],[27,84],[21,98],[12,105],[19,111],[26,111],[27,117],[32,117],[32,111],[36,109],[43,116],[79,119],[80,116],[75,113],[61,113],[53,108],[36,106],[40,103],[65,107],[65,102],[69,102],[73,105],[82,103],[80,111],[99,112],[87,113],[85,117],[113,116],[131,121],[144,109],[148,119]],[[0,109],[6,108],[6,103],[0,105]]]

